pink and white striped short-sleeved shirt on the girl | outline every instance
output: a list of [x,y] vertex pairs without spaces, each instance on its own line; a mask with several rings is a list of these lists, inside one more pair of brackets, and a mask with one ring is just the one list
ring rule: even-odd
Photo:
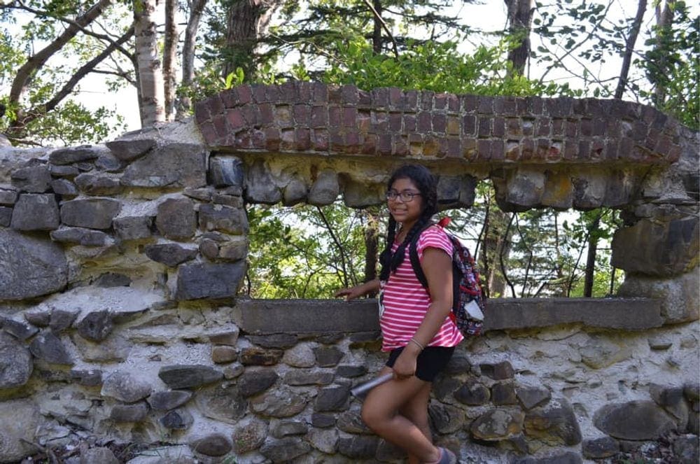
[[[398,246],[398,243],[394,243],[391,251],[395,252]],[[426,248],[437,248],[452,256],[452,244],[440,227],[423,230],[416,248],[421,262]],[[430,302],[430,294],[413,272],[407,246],[403,262],[396,272],[389,275],[388,281],[381,283],[381,350],[391,351],[406,346],[423,322]],[[463,338],[457,326],[446,317],[440,330],[426,346],[456,346]]]

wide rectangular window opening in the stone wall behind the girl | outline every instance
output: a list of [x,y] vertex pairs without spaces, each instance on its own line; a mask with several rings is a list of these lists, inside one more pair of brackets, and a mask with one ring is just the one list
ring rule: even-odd
[[[472,250],[489,297],[607,297],[624,273],[610,265],[612,209],[503,211],[490,181],[470,208],[443,205],[449,229]],[[330,299],[374,279],[386,237],[384,205],[249,205],[244,288],[256,299]],[[373,296],[373,295],[371,295]]]

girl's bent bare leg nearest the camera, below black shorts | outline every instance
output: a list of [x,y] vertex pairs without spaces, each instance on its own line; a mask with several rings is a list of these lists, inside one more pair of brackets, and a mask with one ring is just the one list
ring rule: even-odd
[[[390,372],[391,369],[384,367],[380,374]],[[402,380],[390,380],[386,384],[381,384],[370,391],[362,406],[362,420],[367,427],[374,430],[380,437],[388,442],[405,449],[409,456],[413,456],[419,463],[433,463],[440,458],[440,450],[433,446],[428,436],[423,433],[421,427],[399,414],[399,410],[411,405],[416,396],[424,396],[424,388],[430,384],[418,379],[409,377]],[[421,401],[423,401],[421,399]],[[409,407],[409,414],[413,414],[417,405]],[[424,422],[427,427],[427,402],[426,416]],[[423,421],[423,419],[420,419]]]

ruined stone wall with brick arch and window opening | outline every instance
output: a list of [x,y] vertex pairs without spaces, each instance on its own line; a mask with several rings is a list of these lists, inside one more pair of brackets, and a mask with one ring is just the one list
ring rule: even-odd
[[0,147],[0,462],[59,446],[113,462],[127,442],[148,448],[134,464],[398,458],[349,395],[383,359],[374,302],[236,294],[246,203],[377,204],[405,160],[435,171],[445,207],[490,178],[510,211],[628,223],[625,298],[491,301],[435,384],[436,440],[467,462],[666,442],[694,462],[698,146],[626,102],[295,83],[98,146]]

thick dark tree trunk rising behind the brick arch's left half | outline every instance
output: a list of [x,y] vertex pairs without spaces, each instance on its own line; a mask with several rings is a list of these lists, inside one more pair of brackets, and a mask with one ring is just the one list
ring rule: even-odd
[[246,77],[253,69],[253,55],[260,37],[264,36],[274,10],[281,0],[236,0],[226,14],[226,48],[229,55],[223,75],[228,76],[241,67]]

